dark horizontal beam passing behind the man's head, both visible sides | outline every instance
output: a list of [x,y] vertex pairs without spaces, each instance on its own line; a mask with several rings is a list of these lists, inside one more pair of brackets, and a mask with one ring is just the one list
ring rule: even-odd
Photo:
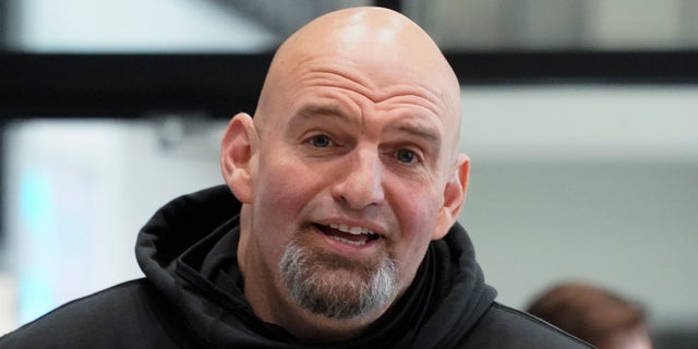
[[[698,84],[698,51],[447,52],[460,83]],[[253,112],[264,55],[0,55],[0,118]]]

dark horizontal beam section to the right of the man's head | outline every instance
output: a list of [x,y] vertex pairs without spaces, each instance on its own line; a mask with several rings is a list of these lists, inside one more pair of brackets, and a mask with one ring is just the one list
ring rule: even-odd
[[698,50],[450,52],[461,84],[698,84]]

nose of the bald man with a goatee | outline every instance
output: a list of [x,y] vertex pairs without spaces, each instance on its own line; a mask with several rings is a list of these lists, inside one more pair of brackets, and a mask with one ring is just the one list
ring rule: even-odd
[[377,152],[357,149],[349,156],[349,161],[341,165],[339,180],[333,185],[335,200],[351,209],[362,209],[383,202],[383,171]]

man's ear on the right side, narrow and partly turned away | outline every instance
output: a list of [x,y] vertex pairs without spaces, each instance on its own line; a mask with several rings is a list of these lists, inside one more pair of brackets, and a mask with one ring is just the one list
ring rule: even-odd
[[446,182],[446,188],[444,188],[444,205],[438,212],[436,229],[432,236],[433,240],[445,237],[450,227],[458,220],[460,208],[466,201],[469,174],[470,158],[465,154],[458,154],[454,173]]

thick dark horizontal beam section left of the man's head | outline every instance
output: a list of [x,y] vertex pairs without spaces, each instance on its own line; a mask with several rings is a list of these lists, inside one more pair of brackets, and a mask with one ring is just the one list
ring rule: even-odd
[[272,55],[0,55],[0,118],[253,112]]

